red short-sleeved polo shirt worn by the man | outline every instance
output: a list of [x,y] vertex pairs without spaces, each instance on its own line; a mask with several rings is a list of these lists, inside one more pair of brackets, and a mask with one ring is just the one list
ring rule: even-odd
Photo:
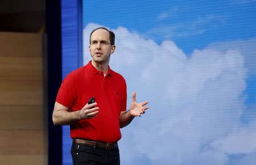
[[56,101],[79,111],[94,96],[99,107],[98,117],[71,124],[71,138],[117,142],[121,138],[119,115],[126,111],[126,82],[122,75],[110,69],[105,75],[91,61],[68,74],[63,80]]

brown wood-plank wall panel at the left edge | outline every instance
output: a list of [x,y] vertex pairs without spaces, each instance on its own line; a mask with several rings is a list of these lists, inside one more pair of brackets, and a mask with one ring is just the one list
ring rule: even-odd
[[0,32],[0,164],[47,164],[43,36]]

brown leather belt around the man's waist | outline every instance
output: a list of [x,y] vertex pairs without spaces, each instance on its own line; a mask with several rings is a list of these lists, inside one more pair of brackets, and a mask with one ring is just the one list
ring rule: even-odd
[[73,139],[73,143],[89,145],[89,146],[97,147],[100,149],[106,149],[106,150],[112,150],[117,148],[117,143],[96,142],[96,141],[90,141],[86,139]]

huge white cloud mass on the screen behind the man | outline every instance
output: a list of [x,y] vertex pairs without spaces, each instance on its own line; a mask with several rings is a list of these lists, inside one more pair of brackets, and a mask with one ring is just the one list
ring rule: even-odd
[[[99,24],[84,28],[84,64],[88,39]],[[217,47],[195,50],[188,58],[173,41],[158,45],[126,28],[112,29],[117,48],[110,67],[127,83],[137,101],[150,109],[122,129],[122,164],[214,164],[255,162],[256,124],[240,120],[246,89],[244,56]],[[243,164],[243,163],[241,163]]]

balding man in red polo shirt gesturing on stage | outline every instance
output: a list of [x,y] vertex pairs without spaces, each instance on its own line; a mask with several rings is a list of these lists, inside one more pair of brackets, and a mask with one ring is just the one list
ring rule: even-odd
[[[133,92],[126,111],[126,82],[109,67],[115,35],[104,27],[90,33],[87,65],[68,74],[57,94],[52,120],[70,125],[73,164],[120,164],[117,141],[120,128],[141,116],[148,101],[137,103]],[[95,103],[88,104],[90,98]]]

